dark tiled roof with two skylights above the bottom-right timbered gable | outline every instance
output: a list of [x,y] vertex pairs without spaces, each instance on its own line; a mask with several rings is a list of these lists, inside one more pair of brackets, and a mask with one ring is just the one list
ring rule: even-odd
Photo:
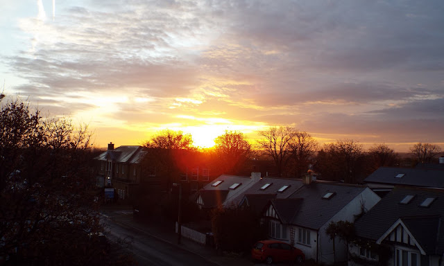
[[[407,195],[414,197],[407,204],[400,204]],[[444,190],[432,188],[395,187],[368,213],[355,222],[357,236],[377,240],[399,219],[409,231],[424,245],[427,251],[444,251]],[[420,204],[434,197],[428,207]],[[441,227],[439,224],[441,223]],[[430,239],[431,236],[436,238]],[[432,253],[436,254],[436,253]]]

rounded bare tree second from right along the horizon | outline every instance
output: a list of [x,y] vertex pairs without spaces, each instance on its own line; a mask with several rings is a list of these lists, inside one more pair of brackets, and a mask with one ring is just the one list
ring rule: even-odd
[[368,149],[370,159],[370,171],[373,172],[379,167],[394,166],[398,161],[398,153],[389,148],[386,144],[375,144]]

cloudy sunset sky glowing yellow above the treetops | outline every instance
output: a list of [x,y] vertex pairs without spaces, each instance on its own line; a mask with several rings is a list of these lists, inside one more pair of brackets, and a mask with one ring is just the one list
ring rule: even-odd
[[0,3],[3,93],[87,123],[99,147],[284,125],[444,148],[442,0]]

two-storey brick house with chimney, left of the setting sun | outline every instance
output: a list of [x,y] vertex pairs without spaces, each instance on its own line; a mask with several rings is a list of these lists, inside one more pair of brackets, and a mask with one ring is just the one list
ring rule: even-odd
[[[141,146],[120,146],[108,144],[108,150],[94,158],[98,164],[96,185],[112,187],[120,199],[130,199],[142,178],[140,162],[146,150]],[[148,175],[155,175],[154,172]]]

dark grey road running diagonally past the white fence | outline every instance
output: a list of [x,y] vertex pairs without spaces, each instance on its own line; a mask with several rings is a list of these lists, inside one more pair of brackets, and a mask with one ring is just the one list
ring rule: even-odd
[[108,238],[115,242],[129,242],[128,249],[135,254],[139,265],[216,265],[197,254],[181,249],[178,245],[132,227],[130,220],[128,223],[114,222],[109,216],[105,216],[103,221],[107,227]]

